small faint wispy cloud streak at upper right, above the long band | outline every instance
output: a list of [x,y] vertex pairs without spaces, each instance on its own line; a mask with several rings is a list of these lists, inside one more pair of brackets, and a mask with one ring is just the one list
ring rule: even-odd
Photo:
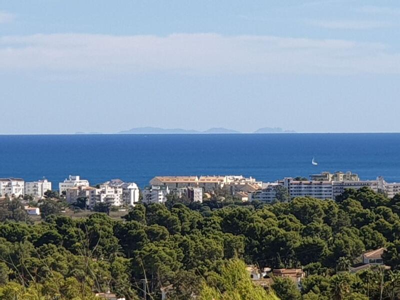
[[363,20],[310,20],[311,25],[328,29],[374,29],[390,27],[392,24],[387,21],[363,21]]

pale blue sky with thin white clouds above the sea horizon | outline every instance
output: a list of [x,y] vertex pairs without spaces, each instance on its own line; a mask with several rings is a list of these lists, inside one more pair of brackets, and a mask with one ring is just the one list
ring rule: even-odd
[[0,134],[400,132],[398,0],[0,0]]

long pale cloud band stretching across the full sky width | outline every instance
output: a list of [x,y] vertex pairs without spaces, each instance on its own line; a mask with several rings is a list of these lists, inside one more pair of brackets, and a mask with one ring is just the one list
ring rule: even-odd
[[380,43],[215,33],[0,37],[0,69],[52,72],[400,73]]

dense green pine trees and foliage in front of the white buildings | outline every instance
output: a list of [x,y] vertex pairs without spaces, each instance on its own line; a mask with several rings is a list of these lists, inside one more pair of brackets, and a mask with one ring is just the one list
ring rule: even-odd
[[[336,201],[224,198],[137,205],[118,220],[105,213],[74,219],[48,202],[35,224],[18,200],[7,200],[0,205],[0,298],[91,299],[110,289],[129,300],[160,299],[162,289],[176,300],[400,299],[400,196],[361,188]],[[346,271],[381,246],[391,270]],[[235,258],[303,267],[307,276],[299,288],[274,278],[275,296],[251,284]]]

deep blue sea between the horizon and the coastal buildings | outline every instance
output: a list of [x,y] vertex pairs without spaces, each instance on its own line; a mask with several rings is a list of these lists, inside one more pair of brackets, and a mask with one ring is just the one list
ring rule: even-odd
[[68,174],[145,186],[155,175],[274,181],[324,170],[400,181],[400,133],[0,135],[0,177],[45,176],[54,189]]

